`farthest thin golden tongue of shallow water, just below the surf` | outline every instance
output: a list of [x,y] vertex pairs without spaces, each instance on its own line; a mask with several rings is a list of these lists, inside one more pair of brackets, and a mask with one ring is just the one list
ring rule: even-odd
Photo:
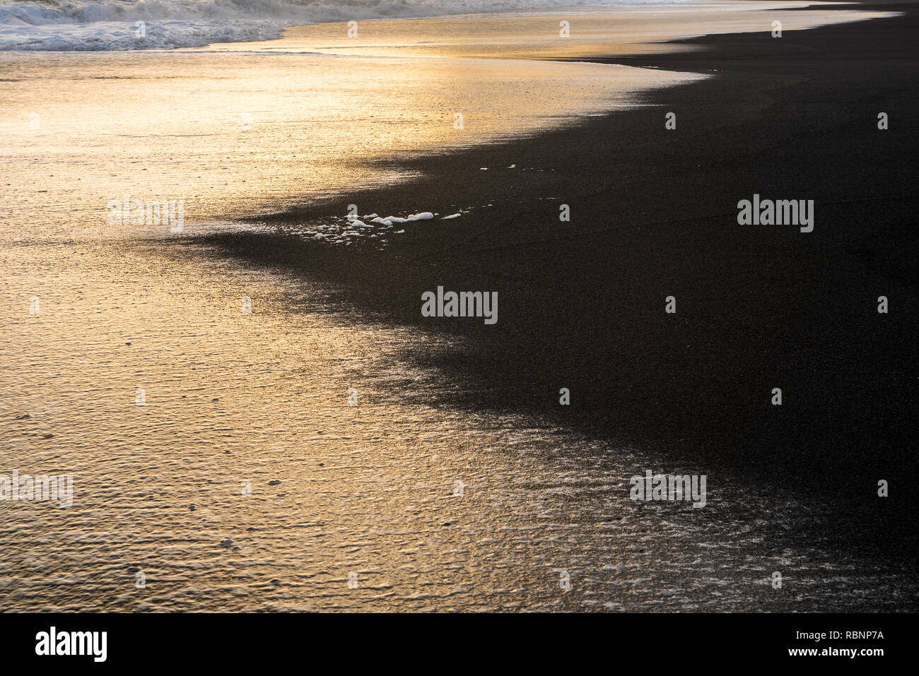
[[[692,1],[495,12],[468,17],[358,22],[289,28],[283,40],[225,43],[221,51],[313,51],[325,54],[577,59],[609,54],[660,53],[690,48],[670,43],[702,35],[771,33],[888,17],[891,12],[826,12],[822,3],[757,0]],[[566,24],[562,26],[562,22]],[[562,35],[564,33],[564,35]]]

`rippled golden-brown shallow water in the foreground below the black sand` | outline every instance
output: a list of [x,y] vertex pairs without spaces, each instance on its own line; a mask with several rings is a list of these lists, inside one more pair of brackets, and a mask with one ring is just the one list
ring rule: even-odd
[[[3,470],[73,474],[74,504],[2,503],[4,610],[902,603],[801,542],[810,502],[442,405],[456,385],[401,355],[458,346],[330,309],[328,289],[162,242],[40,251],[7,267]],[[645,469],[707,474],[707,506],[630,501]]]

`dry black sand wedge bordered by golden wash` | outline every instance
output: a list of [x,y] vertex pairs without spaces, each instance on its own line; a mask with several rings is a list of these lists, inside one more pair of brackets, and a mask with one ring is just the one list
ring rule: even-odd
[[[919,4],[870,8],[905,14],[608,59],[714,76],[567,129],[400,163],[419,177],[260,220],[277,234],[205,243],[321,279],[360,316],[459,336],[461,348],[404,355],[456,383],[444,404],[655,449],[655,471],[691,459],[709,487],[731,474],[828,502],[821,537],[872,565],[902,562],[916,551]],[[813,199],[813,231],[738,225],[754,194]],[[285,232],[340,221],[352,203],[464,213],[408,223],[385,252]],[[438,286],[497,291],[497,323],[423,318],[421,294]]]

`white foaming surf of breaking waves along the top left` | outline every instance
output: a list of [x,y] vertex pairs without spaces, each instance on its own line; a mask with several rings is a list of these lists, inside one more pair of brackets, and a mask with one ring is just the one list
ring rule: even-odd
[[0,0],[0,51],[201,47],[277,39],[285,26],[324,21],[682,2],[691,0]]

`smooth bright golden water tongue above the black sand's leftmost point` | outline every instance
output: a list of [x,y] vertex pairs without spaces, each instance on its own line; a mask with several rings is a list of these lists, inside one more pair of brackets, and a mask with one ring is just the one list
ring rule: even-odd
[[126,195],[181,199],[187,221],[342,195],[396,181],[400,160],[419,152],[550,130],[698,79],[586,63],[245,51],[0,53],[0,63],[6,214],[22,228],[4,239],[95,235],[108,200]]

